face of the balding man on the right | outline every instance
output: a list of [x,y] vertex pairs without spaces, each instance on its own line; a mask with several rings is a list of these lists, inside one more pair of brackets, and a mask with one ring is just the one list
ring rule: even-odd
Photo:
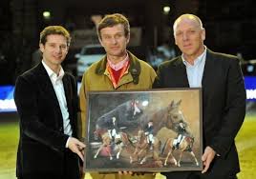
[[203,53],[205,31],[195,19],[184,18],[174,30],[175,44],[185,57],[197,58]]

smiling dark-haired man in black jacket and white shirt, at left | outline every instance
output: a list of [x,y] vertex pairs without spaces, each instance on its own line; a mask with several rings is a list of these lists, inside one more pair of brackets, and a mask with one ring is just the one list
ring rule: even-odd
[[40,33],[42,62],[17,78],[14,100],[20,117],[16,175],[19,179],[78,179],[75,77],[64,72],[71,37],[60,26]]

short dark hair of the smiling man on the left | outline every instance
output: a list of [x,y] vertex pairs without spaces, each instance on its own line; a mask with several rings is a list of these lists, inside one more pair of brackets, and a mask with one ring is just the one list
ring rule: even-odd
[[47,36],[51,34],[59,34],[63,35],[67,39],[67,46],[70,46],[71,43],[71,35],[68,30],[63,28],[62,26],[48,26],[44,30],[40,32],[40,41],[39,44],[45,45],[47,41]]

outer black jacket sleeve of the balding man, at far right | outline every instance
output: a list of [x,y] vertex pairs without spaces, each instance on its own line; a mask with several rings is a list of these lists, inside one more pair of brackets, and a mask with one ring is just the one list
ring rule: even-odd
[[225,156],[245,119],[245,84],[239,60],[231,60],[226,79],[226,101],[222,128],[210,145],[221,156]]

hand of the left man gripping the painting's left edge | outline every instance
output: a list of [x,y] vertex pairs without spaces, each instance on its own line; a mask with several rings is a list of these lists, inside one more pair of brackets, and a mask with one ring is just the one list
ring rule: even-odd
[[84,148],[85,148],[85,145],[83,143],[81,143],[74,137],[70,137],[68,142],[68,148],[71,149],[73,152],[75,152],[83,161]]

